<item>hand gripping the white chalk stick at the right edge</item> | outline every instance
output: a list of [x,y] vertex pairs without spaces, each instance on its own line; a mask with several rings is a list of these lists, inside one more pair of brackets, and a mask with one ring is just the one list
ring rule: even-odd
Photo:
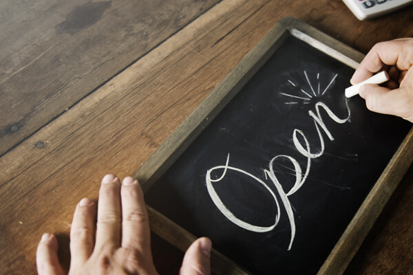
[[385,70],[385,87],[366,84],[360,96],[371,111],[397,115],[413,122],[413,39],[377,43],[361,61],[350,82],[354,85]]

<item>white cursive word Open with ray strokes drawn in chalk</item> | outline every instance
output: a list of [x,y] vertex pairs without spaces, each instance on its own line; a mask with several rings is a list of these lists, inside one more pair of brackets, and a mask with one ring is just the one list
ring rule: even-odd
[[[306,80],[308,81],[308,84],[310,85],[311,91],[313,91],[314,96],[322,96],[326,91],[331,87],[332,83],[334,82],[335,78],[337,77],[337,74],[332,78],[326,89],[324,91],[320,92],[319,90],[319,85],[317,87],[317,94],[315,89],[313,89],[312,85],[310,84],[310,80],[308,79],[308,75],[306,71],[304,71],[304,75],[306,76]],[[317,74],[317,79],[319,78],[319,74]],[[288,80],[288,82],[293,85],[294,87],[296,86],[295,83],[293,83],[291,80]],[[305,93],[305,92],[304,92]],[[288,95],[284,93],[280,93],[283,96],[290,96],[290,97],[295,97],[293,95]],[[309,100],[312,96],[307,94],[309,98],[302,98],[303,100]],[[293,104],[294,102],[288,102],[288,104]],[[288,221],[290,223],[290,243],[288,245],[288,250],[291,250],[293,246],[293,241],[295,239],[295,217],[294,217],[294,212],[293,212],[293,207],[291,206],[289,197],[295,192],[297,192],[301,186],[305,183],[308,174],[310,173],[310,166],[311,166],[311,160],[315,159],[317,157],[321,157],[324,153],[324,137],[323,134],[321,133],[321,130],[324,131],[324,134],[328,137],[330,141],[334,140],[334,137],[332,137],[332,134],[328,130],[326,124],[324,123],[324,120],[321,116],[321,109],[324,109],[325,113],[328,115],[328,117],[333,120],[334,122],[338,124],[343,124],[345,122],[348,122],[350,120],[350,108],[348,107],[348,102],[346,101],[346,108],[348,111],[348,116],[346,118],[339,118],[335,113],[333,113],[330,108],[324,104],[324,102],[317,102],[315,103],[315,111],[310,110],[308,111],[308,115],[310,118],[313,119],[313,122],[315,124],[315,129],[317,131],[318,137],[319,137],[319,151],[312,151],[310,148],[310,144],[308,142],[308,139],[306,135],[303,133],[303,131],[299,129],[294,129],[293,131],[293,144],[295,146],[295,149],[304,157],[306,157],[306,169],[304,174],[302,173],[301,166],[297,159],[289,156],[289,155],[276,155],[271,159],[268,168],[264,169],[264,175],[265,175],[265,180],[260,179],[259,177],[256,177],[255,175],[252,175],[251,173],[248,173],[246,170],[242,170],[241,168],[236,168],[233,166],[229,165],[229,159],[230,159],[230,153],[228,154],[226,158],[226,164],[225,165],[220,165],[220,166],[214,166],[213,168],[210,168],[207,170],[207,175],[206,175],[206,182],[207,182],[207,190],[209,193],[209,196],[211,197],[213,203],[215,206],[224,214],[224,216],[229,219],[232,223],[235,225],[240,226],[240,228],[244,228],[246,230],[250,230],[253,232],[269,232],[273,230],[279,223],[279,217],[280,217],[280,204],[284,207],[286,210],[286,214],[288,217]],[[299,140],[299,136],[301,136],[301,142]],[[304,144],[303,144],[304,142]],[[279,179],[277,179],[277,176],[275,175],[275,171],[273,170],[273,165],[274,162],[277,159],[284,159],[291,164],[293,164],[293,171],[295,173],[295,184],[293,185],[290,190],[284,190],[282,184],[279,182]],[[214,171],[216,172],[214,173]],[[222,170],[222,175],[220,177],[217,177],[218,171]],[[269,192],[271,195],[272,199],[275,201],[275,206],[277,207],[277,214],[276,217],[274,218],[274,222],[270,226],[258,226],[258,225],[253,225],[251,223],[247,223],[246,221],[243,221],[242,219],[239,219],[238,217],[235,217],[235,214],[229,210],[225,204],[222,202],[220,199],[220,196],[218,193],[215,191],[215,188],[213,187],[213,183],[218,183],[222,181],[225,177],[227,176],[227,171],[231,170],[235,173],[240,173],[242,175],[246,175],[248,178],[251,178],[251,183],[252,184],[260,184],[261,186],[264,186],[265,190]],[[215,175],[215,177],[213,177]],[[269,179],[269,180],[268,180]],[[269,182],[268,182],[269,181]],[[275,191],[271,188],[271,186],[275,187]],[[281,199],[281,203],[279,202],[279,199],[277,199],[277,195]]]

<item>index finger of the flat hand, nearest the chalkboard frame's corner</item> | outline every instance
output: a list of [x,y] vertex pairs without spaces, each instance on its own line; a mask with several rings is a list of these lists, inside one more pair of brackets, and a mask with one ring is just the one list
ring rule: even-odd
[[122,247],[134,248],[149,254],[151,232],[142,188],[133,177],[123,179],[122,198]]

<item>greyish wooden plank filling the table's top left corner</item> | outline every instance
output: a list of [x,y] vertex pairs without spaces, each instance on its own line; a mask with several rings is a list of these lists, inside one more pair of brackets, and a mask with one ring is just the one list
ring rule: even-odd
[[0,155],[217,2],[1,1]]

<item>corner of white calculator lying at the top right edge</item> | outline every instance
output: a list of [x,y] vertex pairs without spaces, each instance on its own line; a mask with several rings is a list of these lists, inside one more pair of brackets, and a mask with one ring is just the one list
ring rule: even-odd
[[343,0],[359,20],[371,19],[413,3],[413,0]]

